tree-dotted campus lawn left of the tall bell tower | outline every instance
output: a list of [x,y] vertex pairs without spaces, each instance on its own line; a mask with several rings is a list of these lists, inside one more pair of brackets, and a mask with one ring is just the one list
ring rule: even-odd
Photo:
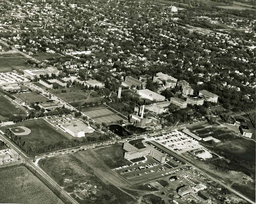
[[[62,93],[62,90],[66,91],[66,93]],[[48,91],[54,94],[55,96],[59,97],[63,101],[66,101],[67,103],[71,103],[79,100],[94,99],[94,97],[90,96],[90,93],[92,93],[93,91],[86,90],[86,92],[83,92],[83,90],[81,90],[81,87],[50,89]],[[87,102],[87,101],[84,101],[84,102]]]

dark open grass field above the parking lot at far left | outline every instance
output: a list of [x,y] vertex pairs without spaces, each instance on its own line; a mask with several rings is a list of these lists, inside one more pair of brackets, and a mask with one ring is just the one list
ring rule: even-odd
[[11,72],[12,70],[30,69],[27,58],[19,54],[1,54],[0,52],[0,72]]

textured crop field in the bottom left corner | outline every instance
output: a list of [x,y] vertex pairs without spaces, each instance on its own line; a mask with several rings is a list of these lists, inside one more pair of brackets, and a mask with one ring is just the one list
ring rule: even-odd
[[63,203],[24,166],[1,168],[0,174],[0,203]]

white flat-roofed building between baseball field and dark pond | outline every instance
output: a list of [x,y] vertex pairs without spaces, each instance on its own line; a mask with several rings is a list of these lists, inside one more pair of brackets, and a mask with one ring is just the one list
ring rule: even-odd
[[59,125],[64,131],[72,135],[73,137],[84,137],[85,133],[93,133],[94,129],[87,126],[80,120],[65,122]]

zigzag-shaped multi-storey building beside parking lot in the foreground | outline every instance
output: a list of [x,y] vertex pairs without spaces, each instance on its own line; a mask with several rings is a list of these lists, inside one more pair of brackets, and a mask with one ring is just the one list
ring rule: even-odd
[[124,143],[123,149],[126,150],[125,152],[125,159],[131,160],[140,158],[143,156],[152,156],[152,158],[156,159],[160,163],[164,163],[166,159],[166,155],[155,148],[148,146],[142,149],[138,149],[134,147],[129,142]]

